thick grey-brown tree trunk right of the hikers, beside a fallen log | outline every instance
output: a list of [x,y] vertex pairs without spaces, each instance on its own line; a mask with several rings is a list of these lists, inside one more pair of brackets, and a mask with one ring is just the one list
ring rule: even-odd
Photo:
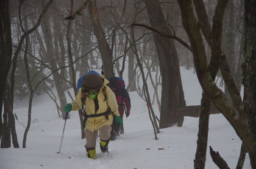
[[[158,0],[144,0],[151,27],[165,34],[171,34]],[[162,98],[160,128],[182,126],[183,116],[175,110],[186,106],[180,78],[179,58],[172,39],[153,34],[162,74]]]

